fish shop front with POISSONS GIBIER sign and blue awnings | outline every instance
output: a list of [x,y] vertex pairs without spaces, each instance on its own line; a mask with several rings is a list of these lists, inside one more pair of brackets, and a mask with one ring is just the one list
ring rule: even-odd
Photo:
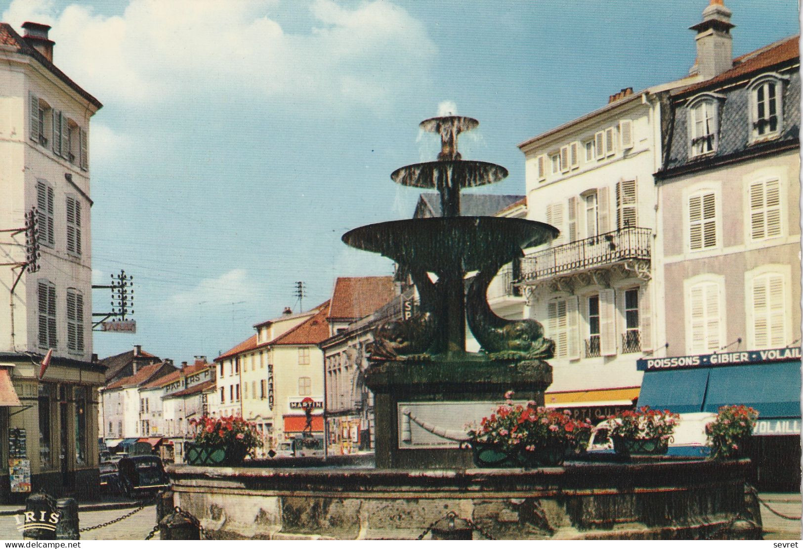
[[759,420],[748,445],[760,490],[799,490],[801,482],[801,349],[672,356],[638,360],[644,371],[638,405],[676,413],[716,413],[748,405]]

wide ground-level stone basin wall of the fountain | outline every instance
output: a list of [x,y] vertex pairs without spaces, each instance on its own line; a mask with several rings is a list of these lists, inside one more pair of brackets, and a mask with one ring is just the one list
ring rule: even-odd
[[416,539],[425,532],[429,539],[449,534],[427,528],[450,511],[495,539],[734,539],[761,531],[745,497],[751,467],[740,460],[167,470],[173,505],[194,514],[213,539]]

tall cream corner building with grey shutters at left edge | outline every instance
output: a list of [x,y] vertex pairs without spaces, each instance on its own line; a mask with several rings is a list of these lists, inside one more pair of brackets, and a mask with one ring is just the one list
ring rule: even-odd
[[[0,280],[10,303],[0,311],[0,381],[10,377],[18,397],[0,408],[0,498],[39,489],[94,498],[104,368],[92,355],[88,136],[102,105],[53,63],[50,26],[22,27],[24,37],[0,23]],[[31,216],[35,263],[19,231]]]

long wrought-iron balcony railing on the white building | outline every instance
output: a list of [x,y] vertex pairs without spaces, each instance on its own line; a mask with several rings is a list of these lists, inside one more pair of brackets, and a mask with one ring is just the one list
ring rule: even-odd
[[521,260],[520,281],[548,279],[628,259],[649,260],[651,233],[644,227],[629,227],[528,254]]

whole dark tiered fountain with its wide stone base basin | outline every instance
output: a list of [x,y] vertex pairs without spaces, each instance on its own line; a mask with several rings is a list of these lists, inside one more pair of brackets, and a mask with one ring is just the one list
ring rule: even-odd
[[[441,137],[438,160],[391,176],[401,185],[438,189],[441,218],[378,223],[343,237],[393,258],[414,280],[421,302],[413,318],[374,333],[366,383],[375,395],[375,466],[332,458],[169,466],[175,504],[220,539],[755,534],[744,520],[758,520],[745,505],[747,460],[472,468],[471,450],[462,447],[465,424],[487,415],[508,390],[543,403],[552,382],[545,360],[553,346],[540,323],[496,316],[485,297],[488,284],[522,248],[558,234],[539,222],[459,215],[461,189],[507,177],[499,165],[460,157],[459,134],[477,124],[460,116],[425,120],[422,128]],[[481,352],[466,352],[466,326]]]

